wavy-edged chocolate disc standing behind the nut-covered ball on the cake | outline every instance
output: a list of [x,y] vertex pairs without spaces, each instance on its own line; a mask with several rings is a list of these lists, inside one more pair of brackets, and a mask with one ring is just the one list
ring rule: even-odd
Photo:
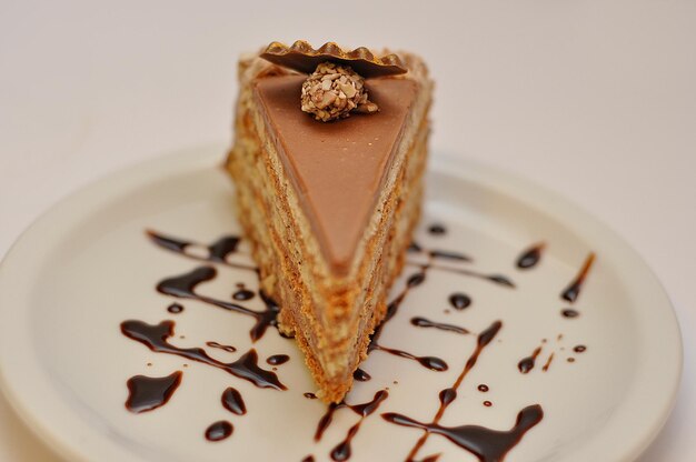
[[304,40],[296,41],[291,47],[272,42],[261,53],[261,58],[274,64],[305,73],[314,72],[317,66],[325,61],[348,64],[362,77],[396,76],[408,72],[396,54],[377,58],[365,47],[344,51],[334,42],[327,42],[318,50]]

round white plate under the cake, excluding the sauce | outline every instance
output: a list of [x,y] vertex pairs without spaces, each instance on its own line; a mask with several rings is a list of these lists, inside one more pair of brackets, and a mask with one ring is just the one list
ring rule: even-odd
[[[312,454],[328,460],[359,420],[339,409],[319,442],[314,434],[326,411],[290,340],[271,328],[251,344],[252,319],[197,300],[159,293],[166,277],[215,267],[218,277],[199,293],[231,301],[235,284],[256,289],[255,273],[187,258],[152,243],[146,229],[210,243],[238,231],[232,185],[218,168],[223,150],[197,149],[112,175],[72,195],[37,221],[0,268],[0,368],[2,385],[24,422],[68,460],[221,461],[289,460]],[[484,425],[509,430],[518,412],[538,404],[544,418],[514,445],[506,461],[630,461],[659,431],[673,405],[682,366],[678,327],[656,278],[626,243],[577,207],[498,171],[434,155],[425,217],[416,240],[425,249],[466,253],[471,262],[434,259],[427,278],[408,291],[379,340],[384,346],[435,355],[447,371],[374,351],[362,365],[371,380],[356,382],[350,404],[388,389],[388,398],[359,428],[351,461],[399,461],[424,434],[387,422],[397,412],[430,422],[438,393],[451,386],[475,351],[477,337],[496,320],[503,328],[484,348],[447,408],[444,426]],[[432,223],[447,229],[428,231]],[[545,242],[541,259],[521,270],[523,250]],[[245,243],[230,261],[250,263]],[[205,257],[200,248],[189,253]],[[561,299],[587,257],[596,260],[575,303]],[[424,262],[422,253],[410,253]],[[435,267],[503,274],[515,288]],[[408,265],[392,297],[407,278]],[[454,309],[451,293],[466,293],[470,307]],[[167,308],[179,301],[185,310]],[[252,310],[256,295],[240,302]],[[564,309],[580,315],[564,318]],[[471,334],[418,328],[415,317],[446,322]],[[259,365],[277,353],[287,391],[258,389],[208,364],[155,353],[126,338],[128,319],[176,322],[171,343],[203,346],[210,356],[231,362],[255,348]],[[181,338],[182,335],[183,338]],[[217,341],[236,353],[206,346]],[[586,351],[574,351],[585,345]],[[523,374],[518,363],[541,346],[536,366]],[[543,365],[550,354],[547,371]],[[568,362],[573,359],[574,362]],[[151,363],[151,365],[148,365]],[[163,376],[182,371],[168,404],[128,412],[127,380],[137,374]],[[488,392],[478,390],[480,384]],[[235,415],[220,395],[233,386],[248,412]],[[484,405],[490,401],[491,405]],[[227,420],[230,438],[209,442],[209,424]],[[469,451],[430,434],[418,458],[441,453],[444,461],[476,461]]]

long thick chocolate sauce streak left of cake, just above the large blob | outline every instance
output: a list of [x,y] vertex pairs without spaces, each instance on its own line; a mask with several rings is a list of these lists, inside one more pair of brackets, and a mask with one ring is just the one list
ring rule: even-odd
[[247,380],[261,389],[286,390],[278,376],[258,366],[258,355],[251,349],[242,354],[237,361],[225,363],[215,360],[201,348],[179,348],[167,340],[173,335],[173,321],[162,321],[159,324],[148,324],[142,321],[123,321],[121,332],[123,335],[140,342],[157,353],[176,354],[192,361],[211,365],[217,369]]

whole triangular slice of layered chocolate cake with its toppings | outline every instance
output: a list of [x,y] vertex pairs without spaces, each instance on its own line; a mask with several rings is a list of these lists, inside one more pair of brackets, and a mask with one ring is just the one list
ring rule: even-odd
[[367,355],[420,212],[432,83],[384,54],[275,42],[239,62],[239,220],[326,402]]

